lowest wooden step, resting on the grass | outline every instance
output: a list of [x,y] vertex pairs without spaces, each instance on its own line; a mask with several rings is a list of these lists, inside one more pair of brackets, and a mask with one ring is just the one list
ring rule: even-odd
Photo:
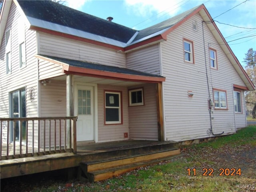
[[142,161],[142,162],[136,162],[136,163],[126,164],[126,165],[122,165],[122,166],[115,166],[115,167],[103,169],[103,170],[96,170],[93,172],[88,172],[86,174],[86,176],[87,176],[89,182],[96,182],[96,181],[116,177],[116,176],[119,176],[126,172],[135,170],[136,168],[148,166],[150,164],[156,164],[163,160],[168,160],[170,158],[174,158],[174,157],[178,157],[178,156],[182,156],[182,154],[177,154],[177,155],[173,155],[173,156],[169,156],[169,157],[154,159],[154,160],[150,160],[150,161]]

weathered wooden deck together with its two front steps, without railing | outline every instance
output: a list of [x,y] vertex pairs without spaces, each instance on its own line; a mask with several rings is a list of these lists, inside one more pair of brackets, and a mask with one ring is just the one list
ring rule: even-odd
[[123,140],[78,142],[77,153],[48,154],[0,161],[1,178],[65,168],[77,168],[78,178],[90,182],[118,176],[138,167],[180,156],[173,142]]

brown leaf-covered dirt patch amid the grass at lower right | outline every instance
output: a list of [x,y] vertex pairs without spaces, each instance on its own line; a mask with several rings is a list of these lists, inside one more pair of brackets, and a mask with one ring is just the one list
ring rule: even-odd
[[[200,149],[184,148],[185,158],[198,159],[200,168],[213,168],[218,174],[220,168],[241,168],[242,175],[255,178],[256,182],[256,146],[250,144],[242,146],[226,145],[219,149],[204,147]],[[204,159],[204,162],[200,162]]]

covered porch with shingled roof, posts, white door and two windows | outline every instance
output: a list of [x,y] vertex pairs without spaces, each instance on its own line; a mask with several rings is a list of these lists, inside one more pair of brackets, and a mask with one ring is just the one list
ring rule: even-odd
[[[78,116],[77,141],[164,140],[164,77],[65,58],[37,57],[42,74],[40,116]],[[46,75],[46,66],[58,70]]]

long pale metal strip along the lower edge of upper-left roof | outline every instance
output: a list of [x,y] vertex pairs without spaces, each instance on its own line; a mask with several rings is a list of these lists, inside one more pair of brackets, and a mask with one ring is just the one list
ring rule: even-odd
[[49,30],[53,30],[53,31],[57,31],[57,32],[65,33],[65,34],[78,36],[81,38],[95,40],[98,42],[102,42],[102,43],[106,43],[106,44],[110,44],[110,45],[114,45],[114,46],[118,46],[118,47],[126,47],[127,46],[126,43],[116,41],[116,40],[113,40],[110,38],[102,37],[99,35],[91,34],[88,32],[84,32],[84,31],[77,30],[74,28],[70,28],[70,27],[59,25],[59,24],[51,23],[48,21],[36,19],[33,17],[27,17],[27,18],[28,18],[31,26],[36,26],[36,27],[45,28],[45,29],[49,29]]

